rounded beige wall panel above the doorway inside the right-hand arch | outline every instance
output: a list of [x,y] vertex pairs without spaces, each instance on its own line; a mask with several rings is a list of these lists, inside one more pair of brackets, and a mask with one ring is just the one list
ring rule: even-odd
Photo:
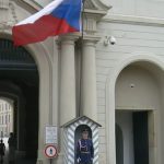
[[160,95],[157,81],[140,66],[127,67],[117,79],[116,108],[160,109]]

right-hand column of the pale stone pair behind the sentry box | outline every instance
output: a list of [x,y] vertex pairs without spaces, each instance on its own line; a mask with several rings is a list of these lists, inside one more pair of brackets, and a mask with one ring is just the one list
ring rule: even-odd
[[84,39],[82,44],[81,115],[97,120],[95,40]]

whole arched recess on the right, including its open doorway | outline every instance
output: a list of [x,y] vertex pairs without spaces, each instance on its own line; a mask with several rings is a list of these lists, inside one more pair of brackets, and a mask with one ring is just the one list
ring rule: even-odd
[[157,149],[162,150],[160,138],[163,136],[160,132],[163,124],[163,71],[155,65],[137,61],[127,66],[117,78],[115,121],[122,130],[126,164],[156,163],[155,153]]

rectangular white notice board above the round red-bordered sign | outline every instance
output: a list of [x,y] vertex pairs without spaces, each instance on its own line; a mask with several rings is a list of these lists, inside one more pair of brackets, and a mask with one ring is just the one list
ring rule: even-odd
[[46,144],[58,144],[58,129],[55,126],[46,127]]

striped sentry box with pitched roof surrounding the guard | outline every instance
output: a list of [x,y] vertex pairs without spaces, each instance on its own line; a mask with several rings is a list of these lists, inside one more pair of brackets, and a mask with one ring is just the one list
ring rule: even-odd
[[98,128],[102,127],[96,121],[86,116],[75,118],[61,128],[63,128],[65,164],[77,164],[77,143],[81,139],[81,131],[87,129],[89,138],[92,139],[94,148],[93,164],[98,164]]

